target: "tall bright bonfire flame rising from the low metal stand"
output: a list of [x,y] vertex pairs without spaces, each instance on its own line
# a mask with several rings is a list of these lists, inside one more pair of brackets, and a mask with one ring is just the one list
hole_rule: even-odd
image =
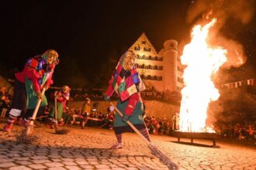
[[208,105],[220,97],[211,76],[227,61],[227,50],[207,44],[209,29],[216,19],[205,26],[192,29],[192,40],[184,47],[181,56],[186,66],[183,74],[185,87],[182,89],[180,108],[180,131],[204,132]]

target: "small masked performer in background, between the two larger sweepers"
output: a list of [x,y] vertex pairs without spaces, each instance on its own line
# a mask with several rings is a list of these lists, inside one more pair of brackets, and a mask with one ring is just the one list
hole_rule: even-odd
[[[59,123],[63,125],[62,114],[64,109],[66,109],[67,100],[70,96],[70,88],[68,86],[63,86],[61,90],[55,91],[54,93],[54,107],[50,110],[50,121],[51,123]],[[57,122],[55,122],[55,102],[57,102]]]

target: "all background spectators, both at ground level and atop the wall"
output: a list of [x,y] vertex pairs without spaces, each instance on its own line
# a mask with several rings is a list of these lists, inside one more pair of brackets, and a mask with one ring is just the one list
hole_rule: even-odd
[[[142,96],[146,99],[164,99],[164,97],[170,97],[174,95],[173,93],[157,93],[157,92],[143,92]],[[97,93],[74,93],[72,98],[73,100],[85,100],[86,97],[89,97],[93,100],[103,100],[101,91]],[[113,98],[115,98],[114,96]],[[12,100],[12,95],[6,93],[5,87],[1,87],[0,90],[0,114],[1,117],[7,117],[9,112],[9,107]],[[168,98],[170,99],[170,98]],[[45,120],[49,110],[52,109],[47,107],[43,114],[41,114],[41,120]],[[72,124],[72,125],[81,125],[81,121],[86,117],[85,127],[98,127],[112,129],[114,120],[115,111],[108,111],[102,113],[96,109],[92,109],[92,112],[88,115],[81,113],[81,110],[75,108],[68,108],[64,110],[62,117],[63,124]],[[175,114],[172,119],[153,117],[150,115],[144,116],[145,124],[150,134],[160,134],[160,135],[171,135],[171,131],[178,130],[178,115]],[[245,140],[256,140],[256,122],[251,122],[247,124],[220,124],[217,123],[214,125],[216,133],[220,138],[236,138],[236,139],[245,139]]]

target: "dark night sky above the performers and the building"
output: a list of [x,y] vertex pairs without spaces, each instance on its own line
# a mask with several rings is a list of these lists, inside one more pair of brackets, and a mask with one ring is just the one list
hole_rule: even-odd
[[[55,86],[92,86],[109,58],[118,59],[145,32],[159,51],[167,39],[189,39],[191,0],[5,1],[2,2],[0,63],[5,76],[29,57],[56,49],[61,63]],[[255,3],[253,3],[255,4]],[[244,73],[256,68],[256,19],[241,25],[232,19],[223,34],[244,45]],[[249,68],[247,70],[247,68]],[[253,71],[252,71],[253,70]],[[249,75],[250,74],[250,75]],[[73,76],[73,78],[72,78]],[[110,75],[109,75],[110,76]],[[247,77],[246,76],[246,77]]]

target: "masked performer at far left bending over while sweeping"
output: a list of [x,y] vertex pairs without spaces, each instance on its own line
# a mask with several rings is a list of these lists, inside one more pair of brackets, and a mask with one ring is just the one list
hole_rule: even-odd
[[29,126],[37,100],[42,100],[41,107],[47,105],[47,98],[41,90],[47,90],[53,83],[52,76],[57,63],[59,63],[58,53],[54,49],[49,49],[43,55],[29,58],[24,70],[16,73],[12,109],[3,128],[4,131],[11,131],[13,123],[19,116],[22,117],[22,124]]

